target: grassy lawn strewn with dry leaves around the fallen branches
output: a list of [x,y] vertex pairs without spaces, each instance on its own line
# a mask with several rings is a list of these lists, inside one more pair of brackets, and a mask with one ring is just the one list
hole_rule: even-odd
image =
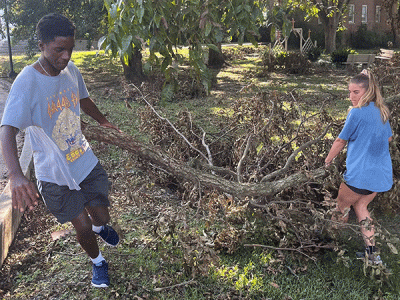
[[[14,57],[15,70],[19,72],[36,59]],[[72,60],[109,120],[146,140],[140,131],[140,112],[145,105],[124,88],[119,62],[96,52],[76,52]],[[7,63],[7,57],[0,58],[3,75],[8,73]],[[235,61],[217,74],[210,95],[178,99],[156,108],[171,120],[179,111],[188,110],[195,123],[212,131],[210,124],[217,112],[228,110],[237,97],[279,90],[291,93],[304,108],[318,110],[324,104],[335,120],[345,118],[349,106],[349,75],[345,71],[253,76],[260,68],[254,57]],[[214,252],[200,242],[200,237],[207,240],[212,235],[206,221],[197,217],[195,209],[185,208],[178,193],[132,168],[131,154],[126,151],[104,143],[91,144],[112,182],[111,217],[122,236],[117,248],[100,242],[112,285],[107,289],[90,286],[91,264],[74,232],[51,239],[52,232],[72,229],[72,225],[55,222],[41,203],[26,214],[1,269],[2,299],[400,299],[400,261],[386,245],[381,245],[382,257],[392,275],[384,282],[371,278],[371,270],[377,268],[364,274],[363,262],[354,255],[363,243],[351,229],[339,234],[345,245],[342,256],[337,251],[320,251],[316,261],[301,255],[284,257],[280,251],[261,247],[240,246],[231,254]],[[400,217],[396,213],[376,210],[374,214],[398,237]],[[351,222],[355,223],[354,218]],[[189,236],[199,239],[185,240]],[[268,237],[260,237],[259,243],[268,245]],[[207,268],[202,269],[205,264]]]

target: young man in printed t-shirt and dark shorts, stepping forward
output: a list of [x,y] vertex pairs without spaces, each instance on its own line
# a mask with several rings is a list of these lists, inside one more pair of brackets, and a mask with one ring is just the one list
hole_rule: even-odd
[[108,264],[96,235],[107,244],[119,242],[106,225],[108,178],[80,127],[80,109],[101,126],[107,121],[90,99],[82,76],[70,61],[75,26],[58,14],[44,16],[36,27],[41,56],[15,79],[1,122],[0,141],[9,170],[12,203],[21,212],[39,199],[35,185],[24,177],[17,155],[16,134],[26,129],[33,149],[39,191],[60,223],[72,222],[78,242],[93,262],[92,285],[110,284]]

